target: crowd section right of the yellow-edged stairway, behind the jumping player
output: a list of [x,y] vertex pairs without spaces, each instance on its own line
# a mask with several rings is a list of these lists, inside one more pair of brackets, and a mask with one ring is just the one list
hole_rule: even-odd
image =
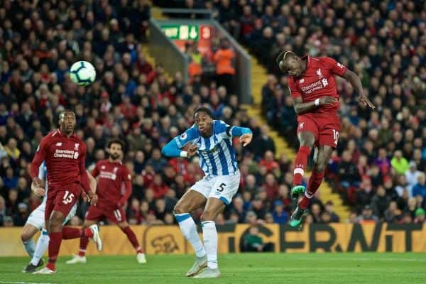
[[[354,70],[375,111],[338,81],[342,129],[327,180],[349,222],[423,222],[426,204],[426,4],[422,1],[220,1],[218,20],[271,72],[263,114],[280,133],[297,126],[282,50],[329,56]],[[303,3],[303,4],[302,4]],[[229,9],[230,8],[230,9]],[[285,135],[293,146],[295,136]],[[312,204],[318,222],[322,210]]]

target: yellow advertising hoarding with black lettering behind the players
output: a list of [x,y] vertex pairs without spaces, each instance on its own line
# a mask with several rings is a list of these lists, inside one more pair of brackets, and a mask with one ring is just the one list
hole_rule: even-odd
[[[193,253],[178,226],[132,226],[132,229],[148,254]],[[249,225],[217,226],[217,229],[219,253],[239,253]],[[21,228],[0,228],[0,256],[26,256],[20,234]],[[259,234],[264,242],[273,244],[275,252],[426,252],[426,226],[422,224],[313,224],[301,231],[268,224],[259,227]],[[102,253],[89,244],[89,255],[135,254],[119,227],[102,226],[101,236]],[[79,239],[62,241],[60,255],[77,253],[79,244]]]

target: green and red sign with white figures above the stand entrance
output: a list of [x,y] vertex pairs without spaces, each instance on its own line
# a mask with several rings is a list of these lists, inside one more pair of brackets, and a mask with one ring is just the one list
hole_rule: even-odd
[[209,25],[162,24],[161,30],[185,53],[185,43],[198,42],[198,50],[204,56],[211,52],[214,28]]

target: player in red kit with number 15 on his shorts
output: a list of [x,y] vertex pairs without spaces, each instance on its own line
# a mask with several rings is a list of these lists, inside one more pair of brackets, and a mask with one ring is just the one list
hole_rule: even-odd
[[38,170],[43,160],[48,172],[49,187],[45,205],[45,226],[50,238],[49,261],[45,268],[35,272],[38,274],[56,272],[55,263],[62,239],[87,236],[94,240],[97,249],[102,249],[97,226],[86,229],[68,226],[62,228],[65,217],[80,196],[80,186],[92,204],[97,202],[97,195],[90,190],[89,177],[84,165],[86,145],[77,137],[74,129],[75,113],[70,110],[62,111],[59,116],[59,129],[50,132],[41,140],[31,163],[30,173],[33,179],[31,187],[41,187]]

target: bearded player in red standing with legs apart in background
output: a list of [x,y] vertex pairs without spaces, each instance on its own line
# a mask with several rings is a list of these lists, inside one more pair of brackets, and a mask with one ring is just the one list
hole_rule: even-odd
[[[90,206],[87,210],[84,220],[84,227],[92,226],[105,217],[109,222],[117,224],[121,231],[136,249],[136,258],[138,263],[146,263],[145,253],[139,246],[135,233],[126,222],[126,214],[123,206],[131,195],[131,175],[126,166],[121,163],[123,157],[124,143],[120,140],[112,140],[108,143],[109,158],[99,161],[92,175],[98,178],[97,195],[98,202],[96,206]],[[124,185],[124,195],[121,195],[121,188]],[[80,239],[80,251],[68,264],[86,263],[87,236]]]

